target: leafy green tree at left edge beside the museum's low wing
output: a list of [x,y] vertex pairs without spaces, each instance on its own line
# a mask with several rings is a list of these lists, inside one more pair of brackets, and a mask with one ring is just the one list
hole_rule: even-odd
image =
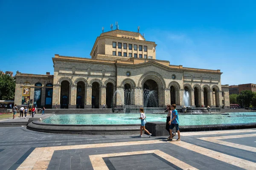
[[14,100],[15,79],[9,75],[0,75],[0,100]]

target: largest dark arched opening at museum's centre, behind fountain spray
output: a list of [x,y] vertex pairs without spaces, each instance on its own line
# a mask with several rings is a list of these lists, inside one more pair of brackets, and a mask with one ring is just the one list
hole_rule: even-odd
[[143,104],[144,107],[158,107],[158,85],[152,79],[148,79],[143,84]]

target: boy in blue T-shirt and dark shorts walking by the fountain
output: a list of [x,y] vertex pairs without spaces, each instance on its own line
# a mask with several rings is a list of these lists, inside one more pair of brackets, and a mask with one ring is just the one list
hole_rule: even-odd
[[[179,130],[179,115],[176,110],[176,105],[172,105],[172,120],[170,120],[169,125],[170,125],[170,134],[172,132],[172,129],[175,127],[176,131],[178,133],[178,139],[176,141],[180,141],[180,130]],[[169,138],[170,141],[172,141],[172,136]]]

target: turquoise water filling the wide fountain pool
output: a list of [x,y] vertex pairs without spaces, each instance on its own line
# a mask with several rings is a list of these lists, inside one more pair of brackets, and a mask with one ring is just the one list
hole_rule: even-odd
[[[167,114],[146,113],[147,122],[166,122]],[[116,125],[140,124],[140,113],[115,114],[63,114],[53,115],[42,122],[50,124],[71,125]],[[256,112],[229,113],[229,115],[185,115],[179,114],[180,125],[217,125],[234,123],[255,123]]]

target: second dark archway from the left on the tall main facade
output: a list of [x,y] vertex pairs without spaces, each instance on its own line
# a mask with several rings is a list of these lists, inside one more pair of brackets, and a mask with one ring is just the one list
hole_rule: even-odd
[[76,108],[84,108],[85,84],[78,82],[76,86]]

